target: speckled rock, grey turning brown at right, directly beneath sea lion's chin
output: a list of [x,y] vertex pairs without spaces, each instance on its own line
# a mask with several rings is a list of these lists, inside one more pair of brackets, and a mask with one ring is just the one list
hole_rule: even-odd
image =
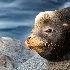
[[17,70],[70,70],[70,60],[51,62],[39,54],[23,63]]

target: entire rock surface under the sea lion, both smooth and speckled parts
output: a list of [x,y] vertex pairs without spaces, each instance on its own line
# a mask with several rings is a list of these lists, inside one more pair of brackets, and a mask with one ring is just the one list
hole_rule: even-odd
[[35,51],[26,49],[21,41],[2,37],[0,70],[70,70],[70,60],[47,61]]

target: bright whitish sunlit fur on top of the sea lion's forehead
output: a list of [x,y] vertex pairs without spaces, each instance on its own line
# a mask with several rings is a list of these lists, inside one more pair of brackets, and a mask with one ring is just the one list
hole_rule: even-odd
[[35,23],[40,23],[43,22],[46,18],[47,21],[49,21],[50,18],[52,18],[53,16],[55,16],[54,12],[53,11],[46,11],[46,12],[40,12],[36,18],[35,18]]

